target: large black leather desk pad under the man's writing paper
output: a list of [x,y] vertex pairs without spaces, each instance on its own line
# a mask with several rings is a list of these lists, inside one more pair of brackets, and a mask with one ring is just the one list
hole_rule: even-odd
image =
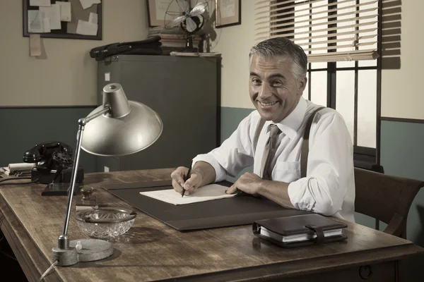
[[[230,187],[232,183],[224,181],[218,184]],[[140,194],[146,191],[172,189],[168,180],[110,184],[102,185],[102,188],[178,231],[240,226],[252,224],[259,219],[309,213],[297,209],[285,209],[271,200],[251,195],[175,205]]]

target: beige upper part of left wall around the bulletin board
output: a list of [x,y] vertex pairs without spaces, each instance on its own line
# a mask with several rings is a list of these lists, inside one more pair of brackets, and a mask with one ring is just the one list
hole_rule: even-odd
[[95,105],[97,68],[88,51],[145,39],[146,0],[102,0],[103,39],[42,38],[47,58],[29,56],[22,36],[22,1],[0,1],[0,106]]

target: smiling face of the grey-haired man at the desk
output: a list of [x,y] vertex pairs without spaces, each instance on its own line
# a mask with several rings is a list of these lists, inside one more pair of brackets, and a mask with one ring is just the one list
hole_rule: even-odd
[[250,62],[249,94],[259,114],[266,121],[278,123],[298,105],[307,78],[293,76],[293,62],[288,56],[267,59],[253,55]]

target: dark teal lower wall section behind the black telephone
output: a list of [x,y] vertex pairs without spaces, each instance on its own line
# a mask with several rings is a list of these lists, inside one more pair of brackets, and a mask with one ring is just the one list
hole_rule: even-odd
[[[0,109],[0,166],[22,163],[23,152],[45,141],[59,141],[76,147],[78,119],[93,108]],[[84,172],[95,171],[95,156],[81,150]]]

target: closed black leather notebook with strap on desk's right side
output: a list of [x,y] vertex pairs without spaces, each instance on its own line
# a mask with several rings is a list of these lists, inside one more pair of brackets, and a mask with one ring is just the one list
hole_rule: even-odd
[[254,235],[281,247],[298,247],[344,240],[345,223],[321,214],[301,214],[254,221]]

